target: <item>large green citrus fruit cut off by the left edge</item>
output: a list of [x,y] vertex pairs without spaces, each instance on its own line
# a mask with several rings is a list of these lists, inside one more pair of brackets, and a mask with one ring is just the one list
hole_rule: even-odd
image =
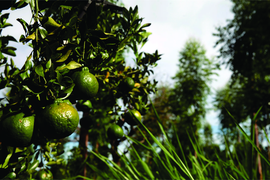
[[0,121],[1,143],[11,147],[28,147],[36,137],[35,117],[17,111],[3,116]]

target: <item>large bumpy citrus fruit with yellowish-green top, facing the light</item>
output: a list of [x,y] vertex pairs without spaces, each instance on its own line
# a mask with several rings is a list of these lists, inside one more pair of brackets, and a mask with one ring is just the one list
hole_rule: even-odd
[[70,136],[79,124],[79,114],[70,104],[56,100],[38,115],[39,130],[49,139]]

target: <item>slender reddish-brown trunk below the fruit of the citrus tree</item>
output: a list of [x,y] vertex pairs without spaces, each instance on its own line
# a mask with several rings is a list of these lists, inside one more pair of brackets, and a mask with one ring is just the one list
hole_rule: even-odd
[[[83,117],[87,115],[88,113],[83,113]],[[82,161],[84,161],[87,158],[87,146],[88,146],[88,130],[85,129],[84,127],[81,127],[80,130],[79,146],[81,147]],[[86,177],[86,164],[84,164],[83,170],[80,173],[80,175]]]

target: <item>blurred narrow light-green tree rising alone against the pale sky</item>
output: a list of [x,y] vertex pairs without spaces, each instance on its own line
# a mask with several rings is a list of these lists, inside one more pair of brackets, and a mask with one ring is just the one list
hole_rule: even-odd
[[199,41],[189,39],[186,42],[180,51],[179,71],[173,77],[175,85],[169,97],[171,112],[176,116],[179,140],[185,146],[185,154],[188,154],[192,147],[186,133],[188,131],[193,137],[193,131],[198,137],[197,130],[205,118],[206,99],[211,92],[208,83],[211,82],[213,70],[217,68],[213,60],[205,56],[205,52]]

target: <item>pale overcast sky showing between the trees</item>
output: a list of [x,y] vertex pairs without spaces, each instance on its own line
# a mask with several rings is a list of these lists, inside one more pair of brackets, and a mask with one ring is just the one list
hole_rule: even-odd
[[[188,38],[196,38],[206,49],[206,56],[211,58],[218,55],[218,49],[214,49],[216,38],[215,27],[225,26],[226,19],[232,19],[232,2],[225,0],[123,0],[125,7],[138,5],[139,16],[144,18],[142,24],[151,23],[145,28],[152,32],[148,42],[141,51],[154,53],[157,49],[161,56],[158,66],[155,67],[155,78],[159,82],[172,84],[173,77],[178,70],[179,51],[184,47]],[[3,29],[1,35],[12,35],[19,40],[20,35],[24,34],[22,26],[17,18],[22,18],[29,23],[31,19],[30,7],[18,10],[3,10],[2,14],[10,13],[7,20],[13,27]],[[17,56],[13,58],[17,67],[21,68],[26,57],[32,49],[21,43],[12,43],[9,46],[17,47]],[[223,87],[228,81],[231,73],[229,70],[218,72],[219,77],[211,84],[215,89]],[[217,129],[217,113],[210,111],[206,117],[207,121]]]

